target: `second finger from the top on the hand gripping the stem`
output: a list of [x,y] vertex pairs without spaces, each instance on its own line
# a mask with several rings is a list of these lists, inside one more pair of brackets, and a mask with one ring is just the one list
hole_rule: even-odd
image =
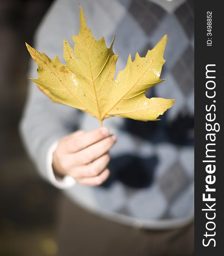
[[93,145],[90,145],[88,148],[85,148],[71,156],[74,156],[73,161],[76,164],[76,166],[91,163],[92,161],[107,153],[115,142],[116,137],[114,135],[111,135],[105,138],[104,140],[101,140]]

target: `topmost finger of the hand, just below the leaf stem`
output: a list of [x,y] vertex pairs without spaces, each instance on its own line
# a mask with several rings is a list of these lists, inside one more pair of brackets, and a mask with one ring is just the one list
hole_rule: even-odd
[[89,145],[92,145],[105,137],[108,137],[109,130],[106,127],[102,127],[96,129],[94,131],[86,132],[85,134],[81,134],[80,136],[70,137],[67,140],[67,148],[71,153],[78,152]]

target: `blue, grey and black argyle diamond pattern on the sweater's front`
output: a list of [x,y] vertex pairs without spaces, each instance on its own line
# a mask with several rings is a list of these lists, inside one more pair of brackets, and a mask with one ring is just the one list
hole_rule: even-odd
[[[127,12],[114,29],[119,38],[114,51],[122,53],[119,58],[124,67],[130,52],[132,59],[136,48],[144,56],[168,34],[162,70],[162,78],[167,80],[150,89],[147,96],[175,98],[176,103],[159,122],[119,121],[121,131],[139,140],[135,150],[141,151],[145,143],[150,152],[142,157],[135,150],[124,150],[116,157],[115,151],[122,146],[112,149],[111,176],[94,188],[97,203],[107,210],[139,219],[181,218],[193,212],[193,2],[186,1],[170,14],[148,0],[132,0],[128,4],[125,1]],[[128,23],[129,29],[134,28],[131,35],[125,30]],[[135,36],[139,38],[136,40]],[[110,127],[109,120],[106,125]]]

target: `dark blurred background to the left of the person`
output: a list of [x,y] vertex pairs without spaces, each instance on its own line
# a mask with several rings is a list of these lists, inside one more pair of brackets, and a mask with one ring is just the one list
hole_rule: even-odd
[[[58,190],[28,160],[18,134],[32,38],[52,0],[0,0],[0,255],[57,253]],[[48,196],[46,196],[48,195]]]

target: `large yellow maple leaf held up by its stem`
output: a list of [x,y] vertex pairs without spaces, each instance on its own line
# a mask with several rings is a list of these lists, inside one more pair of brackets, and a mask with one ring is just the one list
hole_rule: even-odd
[[[53,102],[78,108],[102,120],[121,116],[141,121],[158,120],[170,108],[174,99],[147,98],[146,90],[162,82],[160,73],[164,64],[163,53],[167,41],[165,35],[146,56],[136,53],[132,61],[119,71],[114,81],[118,55],[113,53],[113,42],[106,47],[104,38],[96,41],[87,28],[80,6],[79,35],[73,36],[74,50],[63,42],[63,65],[56,56],[48,58],[26,44],[31,57],[38,64],[38,79],[34,81]],[[115,38],[115,36],[114,36]],[[113,38],[113,41],[114,41]]]

